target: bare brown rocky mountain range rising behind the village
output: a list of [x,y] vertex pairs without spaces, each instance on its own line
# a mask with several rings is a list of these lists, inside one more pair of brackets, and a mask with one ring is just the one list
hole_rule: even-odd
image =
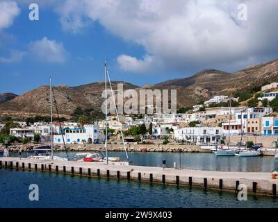
[[[278,60],[254,65],[235,73],[205,69],[188,78],[167,80],[156,85],[145,85],[145,87],[124,83],[124,89],[177,89],[177,105],[181,107],[195,105],[198,101],[204,101],[214,95],[229,95],[230,92],[234,94],[274,81],[278,81]],[[112,83],[113,89],[117,89],[117,83],[120,82]],[[103,90],[104,82],[77,87],[65,85],[54,87],[59,111],[65,117],[70,117],[78,107],[100,110],[103,102],[101,99]],[[49,114],[49,106],[49,87],[42,86],[0,103],[0,116],[45,115]]]

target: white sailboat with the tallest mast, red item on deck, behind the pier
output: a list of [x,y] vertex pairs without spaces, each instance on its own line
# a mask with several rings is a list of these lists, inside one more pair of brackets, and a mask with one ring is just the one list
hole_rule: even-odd
[[122,129],[120,128],[120,133],[121,133],[121,137],[122,137],[122,144],[124,145],[124,151],[126,153],[126,160],[127,161],[122,161],[120,159],[120,157],[108,157],[108,124],[107,124],[107,114],[108,114],[108,110],[107,110],[107,80],[109,82],[110,88],[111,88],[111,94],[113,97],[113,103],[115,106],[115,112],[117,115],[117,121],[120,122],[120,118],[119,115],[117,113],[117,106],[116,106],[116,101],[115,101],[115,96],[114,96],[114,92],[113,92],[113,88],[111,85],[111,80],[110,80],[110,76],[108,73],[108,67],[106,65],[106,62],[104,62],[104,69],[105,69],[105,95],[106,95],[106,101],[105,101],[105,151],[106,151],[106,155],[104,157],[101,157],[101,155],[99,153],[76,153],[76,156],[79,157],[79,160],[77,161],[81,161],[81,162],[99,162],[99,164],[115,164],[115,165],[129,165],[129,163],[131,161],[129,161],[129,155],[126,151],[126,146],[125,146],[125,142],[124,142],[124,135],[122,133]]

